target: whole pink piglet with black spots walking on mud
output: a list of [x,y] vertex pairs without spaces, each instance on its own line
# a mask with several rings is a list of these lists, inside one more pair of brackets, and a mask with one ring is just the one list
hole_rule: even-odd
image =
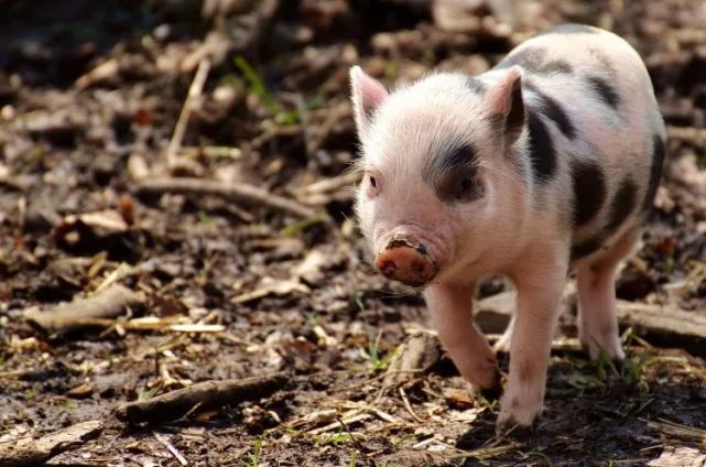
[[481,390],[499,377],[471,322],[476,281],[501,273],[517,285],[499,426],[542,411],[569,272],[580,340],[594,358],[622,359],[613,279],[652,206],[665,141],[634,50],[564,25],[476,77],[439,73],[389,94],[354,67],[351,85],[366,173],[356,209],[376,265],[424,286],[442,341]]

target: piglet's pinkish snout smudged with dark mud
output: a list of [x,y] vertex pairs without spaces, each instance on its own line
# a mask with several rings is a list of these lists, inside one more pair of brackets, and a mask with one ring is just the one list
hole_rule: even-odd
[[378,253],[376,268],[385,278],[413,286],[426,284],[438,272],[424,243],[402,234],[393,236]]

